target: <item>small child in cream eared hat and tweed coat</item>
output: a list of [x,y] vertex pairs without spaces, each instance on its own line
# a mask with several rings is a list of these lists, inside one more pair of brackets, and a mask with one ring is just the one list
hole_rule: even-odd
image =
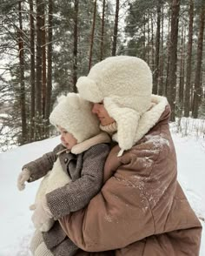
[[32,207],[36,232],[30,249],[35,256],[76,253],[77,247],[54,219],[82,209],[102,187],[110,139],[107,133],[100,133],[91,107],[75,93],[58,98],[50,123],[61,132],[62,144],[24,165],[18,177],[18,189],[23,190],[26,181],[45,176]]

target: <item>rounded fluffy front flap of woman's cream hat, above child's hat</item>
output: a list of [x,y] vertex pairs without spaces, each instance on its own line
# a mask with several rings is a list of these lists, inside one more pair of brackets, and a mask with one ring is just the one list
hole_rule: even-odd
[[76,83],[76,87],[81,96],[90,102],[101,102],[102,92],[99,91],[96,82],[89,77],[79,77]]

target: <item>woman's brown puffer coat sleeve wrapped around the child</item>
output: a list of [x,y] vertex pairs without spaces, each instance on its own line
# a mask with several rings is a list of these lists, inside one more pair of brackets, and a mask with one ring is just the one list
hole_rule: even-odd
[[59,219],[77,246],[88,252],[115,250],[155,233],[145,180],[149,185],[155,160],[162,160],[158,153],[144,151],[137,158],[136,151],[123,157],[122,165],[86,208]]

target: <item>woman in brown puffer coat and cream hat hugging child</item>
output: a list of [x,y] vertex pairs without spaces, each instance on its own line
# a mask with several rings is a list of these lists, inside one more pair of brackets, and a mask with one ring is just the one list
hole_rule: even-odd
[[137,57],[108,57],[76,85],[116,145],[101,192],[83,210],[60,219],[64,232],[88,252],[199,255],[202,226],[176,179],[170,107],[166,98],[151,94],[149,66]]

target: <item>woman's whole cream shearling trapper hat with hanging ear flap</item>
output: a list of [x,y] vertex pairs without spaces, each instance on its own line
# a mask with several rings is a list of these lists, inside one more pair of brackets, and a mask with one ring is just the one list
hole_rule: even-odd
[[103,100],[109,116],[116,120],[122,152],[129,150],[135,144],[139,119],[151,106],[152,73],[148,64],[138,57],[108,57],[95,64],[87,77],[79,77],[76,87],[90,102]]

